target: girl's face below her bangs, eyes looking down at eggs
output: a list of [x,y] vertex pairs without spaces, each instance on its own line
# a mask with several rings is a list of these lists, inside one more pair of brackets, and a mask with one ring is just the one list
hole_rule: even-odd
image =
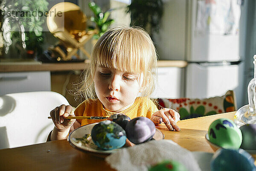
[[97,66],[93,81],[96,95],[104,107],[121,112],[134,103],[140,92],[143,75]]

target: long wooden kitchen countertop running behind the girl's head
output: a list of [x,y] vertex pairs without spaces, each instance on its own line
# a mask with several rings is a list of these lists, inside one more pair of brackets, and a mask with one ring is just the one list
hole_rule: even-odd
[[[84,70],[89,60],[84,62],[67,63],[40,63],[29,62],[0,62],[0,72],[26,72],[26,71],[67,71]],[[186,61],[157,61],[158,67],[186,67]]]

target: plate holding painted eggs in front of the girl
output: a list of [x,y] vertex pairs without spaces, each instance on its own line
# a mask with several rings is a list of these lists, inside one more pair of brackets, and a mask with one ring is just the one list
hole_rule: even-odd
[[155,128],[150,119],[146,117],[130,119],[126,115],[115,114],[108,120],[84,125],[73,130],[67,141],[80,151],[106,157],[121,148],[152,139],[164,139],[164,135]]

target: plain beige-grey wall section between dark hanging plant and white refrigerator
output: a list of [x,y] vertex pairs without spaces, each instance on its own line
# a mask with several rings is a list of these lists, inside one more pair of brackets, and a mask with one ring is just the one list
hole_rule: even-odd
[[187,0],[165,0],[159,34],[154,35],[160,60],[185,60]]

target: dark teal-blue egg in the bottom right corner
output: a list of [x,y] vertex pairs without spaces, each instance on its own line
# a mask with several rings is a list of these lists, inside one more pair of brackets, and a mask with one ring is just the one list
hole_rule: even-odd
[[253,157],[243,149],[219,149],[211,160],[211,171],[256,171]]

